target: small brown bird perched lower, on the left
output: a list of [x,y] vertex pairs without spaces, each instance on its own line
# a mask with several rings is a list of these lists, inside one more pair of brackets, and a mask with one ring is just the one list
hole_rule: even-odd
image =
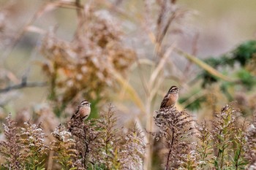
[[83,100],[80,102],[78,109],[72,115],[71,119],[79,116],[82,120],[87,119],[91,113],[91,103],[89,101]]

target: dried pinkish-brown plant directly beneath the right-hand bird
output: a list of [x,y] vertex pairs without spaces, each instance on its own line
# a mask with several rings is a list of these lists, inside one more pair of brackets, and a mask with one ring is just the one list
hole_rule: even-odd
[[192,138],[194,132],[192,117],[187,112],[179,112],[175,107],[164,107],[156,111],[157,117],[154,117],[156,125],[159,127],[159,134],[154,134],[155,139],[164,139],[165,147],[165,169],[178,169],[186,167],[189,158],[194,152]]

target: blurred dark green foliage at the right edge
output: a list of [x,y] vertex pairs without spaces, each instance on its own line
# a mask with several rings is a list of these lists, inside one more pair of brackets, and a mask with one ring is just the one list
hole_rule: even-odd
[[[201,86],[204,89],[211,87],[211,85],[218,85],[220,93],[225,95],[227,101],[234,101],[236,99],[236,89],[244,89],[252,91],[256,86],[256,41],[249,40],[241,45],[238,45],[235,50],[230,51],[218,57],[210,57],[204,60],[208,65],[222,72],[227,77],[234,77],[233,81],[224,81],[210,72],[204,70],[193,81],[193,83],[201,80]],[[233,92],[233,93],[231,93]],[[215,93],[216,94],[216,93]],[[186,98],[181,98],[181,103],[186,103],[189,98],[193,98],[193,93]],[[196,98],[193,102],[186,105],[188,109],[199,109],[203,102],[206,101],[206,94],[201,98]],[[244,109],[244,108],[243,108]],[[248,109],[247,109],[248,110]]]

